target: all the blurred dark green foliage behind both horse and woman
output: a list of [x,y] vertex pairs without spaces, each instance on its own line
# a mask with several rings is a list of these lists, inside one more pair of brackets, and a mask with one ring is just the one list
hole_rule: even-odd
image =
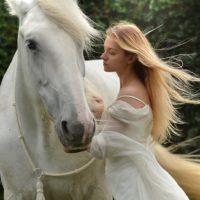
[[[79,0],[79,5],[102,32],[119,20],[133,22],[144,32],[161,25],[147,35],[157,53],[162,58],[177,55],[185,69],[200,75],[199,0]],[[0,0],[0,82],[17,49],[17,29],[16,17],[8,14],[4,0]],[[93,52],[85,58],[99,58],[102,43],[98,41]],[[194,87],[199,90],[199,85]],[[166,146],[200,136],[200,106],[184,105],[179,111],[186,123],[180,126],[181,135],[169,138]],[[194,140],[177,152],[199,154],[199,147],[200,140]],[[3,200],[1,186],[0,200]]]

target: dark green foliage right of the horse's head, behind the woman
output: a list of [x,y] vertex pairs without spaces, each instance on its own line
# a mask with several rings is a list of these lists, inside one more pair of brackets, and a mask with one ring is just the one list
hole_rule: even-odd
[[[105,30],[110,24],[119,20],[133,22],[144,32],[162,25],[147,35],[154,48],[162,49],[157,50],[157,53],[163,58],[177,55],[177,58],[184,61],[184,68],[200,74],[200,12],[198,11],[200,1],[104,0],[93,2],[92,6],[90,2],[90,0],[80,1],[80,6],[92,20],[101,25],[101,30]],[[96,14],[93,15],[94,13]],[[188,42],[183,44],[185,41]],[[179,47],[170,48],[177,45]],[[102,51],[102,44],[100,44],[93,56],[98,58]],[[196,90],[199,90],[199,85]],[[200,134],[199,106],[187,105],[180,112],[183,113],[183,120],[187,123],[180,126],[181,137],[170,139],[172,143]],[[192,146],[197,147],[197,142],[193,142]],[[189,149],[186,148],[182,152],[188,152]]]

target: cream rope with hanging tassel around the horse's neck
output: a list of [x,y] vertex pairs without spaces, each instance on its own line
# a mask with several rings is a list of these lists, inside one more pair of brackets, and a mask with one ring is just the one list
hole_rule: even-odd
[[[16,91],[16,71],[15,71],[15,79],[14,79],[14,88]],[[14,95],[14,102],[15,102],[15,95]],[[20,140],[20,143],[24,149],[24,152],[26,154],[26,157],[31,165],[31,168],[33,170],[33,173],[35,174],[36,177],[36,200],[45,200],[45,196],[44,196],[44,190],[43,190],[43,182],[42,182],[42,178],[44,176],[50,176],[50,177],[61,177],[61,176],[69,176],[69,175],[74,175],[74,174],[78,174],[81,171],[85,170],[87,167],[89,167],[94,161],[95,158],[91,158],[85,165],[83,165],[82,167],[69,171],[69,172],[64,172],[64,173],[51,173],[51,172],[47,172],[42,170],[39,167],[36,167],[35,163],[33,162],[30,153],[28,151],[26,142],[24,140],[24,135],[23,135],[23,131],[22,128],[20,126],[20,120],[18,117],[18,113],[17,113],[17,106],[16,103],[13,104],[14,110],[15,110],[15,115],[16,115],[16,119],[17,119],[17,125],[18,125],[18,129],[19,129],[19,135],[18,138]]]

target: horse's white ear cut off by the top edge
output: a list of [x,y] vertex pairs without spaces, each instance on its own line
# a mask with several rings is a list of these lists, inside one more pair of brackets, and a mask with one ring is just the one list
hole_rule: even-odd
[[24,16],[35,5],[35,0],[6,0],[11,15]]

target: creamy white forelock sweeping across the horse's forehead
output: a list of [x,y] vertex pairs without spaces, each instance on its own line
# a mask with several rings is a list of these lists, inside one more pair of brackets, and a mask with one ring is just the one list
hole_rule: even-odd
[[83,48],[88,49],[99,36],[91,20],[75,0],[36,0],[38,6],[55,24],[68,32]]

